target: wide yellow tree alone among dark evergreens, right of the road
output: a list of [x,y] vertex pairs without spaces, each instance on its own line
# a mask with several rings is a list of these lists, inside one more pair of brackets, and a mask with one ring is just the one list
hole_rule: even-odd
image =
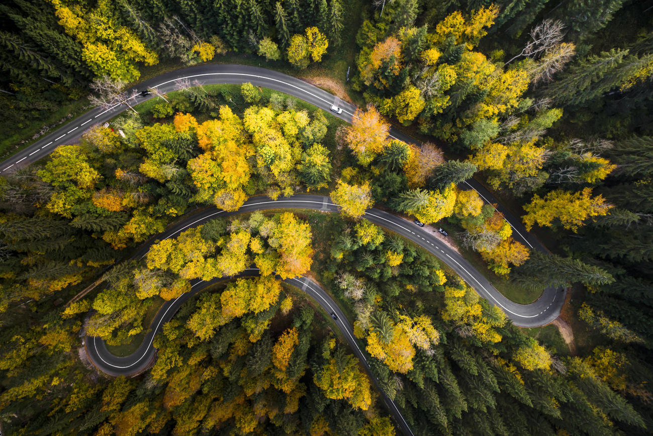
[[612,207],[605,203],[603,195],[592,198],[592,188],[584,188],[581,192],[555,190],[544,198],[535,194],[524,206],[527,213],[522,220],[527,230],[534,224],[551,227],[554,220],[560,220],[565,229],[577,231],[587,218],[606,215]]

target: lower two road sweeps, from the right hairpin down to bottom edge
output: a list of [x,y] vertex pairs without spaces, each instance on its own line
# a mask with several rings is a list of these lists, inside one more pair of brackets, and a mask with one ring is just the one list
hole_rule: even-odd
[[[187,229],[200,226],[201,224],[215,218],[266,209],[313,209],[324,212],[338,212],[338,205],[332,203],[329,197],[321,195],[293,195],[293,197],[283,197],[276,201],[268,197],[253,197],[246,201],[246,203],[235,212],[227,212],[225,210],[211,207],[202,210],[201,212],[191,214],[182,220],[182,222],[178,222],[167,231],[161,233],[157,240],[176,237]],[[562,295],[559,295],[555,291],[552,293],[548,292],[548,290],[545,291],[545,293],[535,301],[535,303],[530,305],[518,305],[517,303],[513,303],[503,297],[500,292],[492,287],[490,282],[488,282],[481,273],[476,271],[468,261],[460,256],[460,254],[456,253],[448,246],[441,244],[439,240],[426,229],[415,226],[398,216],[379,209],[368,209],[365,212],[365,218],[374,222],[374,224],[377,224],[378,226],[406,237],[437,256],[441,261],[443,261],[443,263],[446,263],[456,271],[456,273],[458,273],[458,275],[460,275],[481,296],[485,297],[493,305],[500,307],[518,326],[533,327],[548,324],[558,316],[560,309],[562,308],[562,303],[564,303],[564,299],[561,298]],[[153,243],[155,242],[151,241],[150,243],[141,246],[136,251],[134,258],[139,259],[146,256]],[[247,269],[238,277],[252,276],[257,273],[257,269]],[[124,357],[114,356],[107,350],[106,344],[102,339],[86,336],[84,344],[86,346],[87,355],[96,367],[109,375],[135,375],[144,371],[150,367],[155,358],[156,350],[152,343],[154,336],[160,331],[161,326],[171,320],[181,305],[192,295],[219,280],[224,279],[216,278],[209,282],[193,280],[190,292],[184,293],[174,300],[167,301],[161,309],[159,309],[159,312],[157,312],[143,342],[140,344],[138,349],[133,352],[133,354]],[[349,320],[347,320],[344,312],[340,307],[338,307],[337,303],[323,288],[321,288],[321,286],[319,286],[319,284],[313,282],[313,280],[308,277],[289,278],[284,281],[306,292],[327,312],[334,312],[338,315],[336,326],[340,331],[342,331],[343,336],[347,340],[347,343],[349,343],[349,346],[351,346],[354,354],[370,375],[370,378],[379,392],[381,392],[383,401],[385,401],[390,413],[394,417],[397,426],[402,429],[404,434],[413,435],[394,402],[383,394],[383,390],[381,390],[378,380],[376,380],[370,370],[366,355],[362,352],[357,340],[353,336],[353,326]]]

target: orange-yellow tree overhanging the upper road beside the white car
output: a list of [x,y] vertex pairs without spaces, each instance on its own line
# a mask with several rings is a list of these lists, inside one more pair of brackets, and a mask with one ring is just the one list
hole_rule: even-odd
[[368,105],[365,112],[360,109],[354,112],[351,126],[347,127],[345,140],[360,165],[369,165],[377,154],[383,151],[389,128],[390,125],[372,105]]

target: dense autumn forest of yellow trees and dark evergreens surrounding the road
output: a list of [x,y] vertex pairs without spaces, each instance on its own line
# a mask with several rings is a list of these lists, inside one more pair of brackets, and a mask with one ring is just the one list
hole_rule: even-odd
[[[249,83],[180,81],[0,177],[1,431],[393,435],[380,389],[415,435],[650,432],[653,3],[356,6],[0,6],[3,132],[159,63],[319,68],[343,35],[357,44],[346,89],[366,103],[349,126]],[[392,139],[391,125],[423,144]],[[516,241],[460,184],[471,177],[550,254]],[[298,192],[342,213],[236,214],[157,239],[197,209]],[[437,258],[365,220],[373,205],[447,227],[500,291],[568,288],[571,346],[513,326]],[[226,280],[251,266],[259,277]],[[328,314],[280,281],[300,275],[338,301],[371,374]],[[146,372],[106,377],[88,360],[86,335],[129,354],[165,301],[219,278],[164,325]]]

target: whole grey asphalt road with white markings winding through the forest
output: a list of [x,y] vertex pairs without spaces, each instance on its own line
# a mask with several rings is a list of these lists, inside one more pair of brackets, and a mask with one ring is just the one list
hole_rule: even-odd
[[[338,105],[341,107],[341,114],[332,115],[342,118],[347,122],[351,122],[356,107],[345,103],[335,97],[334,95],[325,92],[315,86],[312,86],[298,78],[293,76],[285,75],[279,73],[278,71],[272,71],[264,68],[249,67],[246,65],[197,65],[195,67],[189,67],[185,69],[179,69],[172,71],[170,73],[165,73],[163,75],[157,76],[155,78],[148,79],[140,84],[136,89],[143,90],[146,88],[157,88],[159,92],[166,93],[174,90],[174,84],[176,80],[180,79],[189,79],[192,81],[197,80],[200,84],[242,84],[244,82],[251,82],[257,86],[262,86],[265,88],[270,88],[277,90],[279,92],[287,93],[302,99],[316,107],[319,107],[324,110],[329,110],[332,104]],[[154,95],[149,97],[134,97],[133,104],[142,103],[151,98],[157,98]],[[82,133],[88,127],[91,127],[95,124],[101,124],[110,120],[114,116],[120,114],[121,112],[127,110],[127,107],[122,104],[115,105],[114,107],[106,110],[95,109],[87,112],[86,114],[72,120],[63,127],[59,127],[50,135],[46,135],[43,139],[40,139],[31,146],[25,148],[21,152],[18,152],[11,158],[6,159],[0,163],[0,175],[6,174],[8,171],[14,171],[20,167],[29,165],[34,161],[37,161],[44,156],[50,154],[54,148],[61,144],[72,144],[81,137]],[[394,139],[399,139],[407,143],[418,144],[417,141],[411,137],[405,135],[404,133],[397,131],[396,129],[390,129],[390,137]],[[517,241],[520,241],[530,248],[539,250],[541,252],[547,252],[547,249],[535,239],[530,233],[526,231],[524,226],[521,224],[520,220],[513,216],[501,203],[488,192],[485,187],[478,182],[477,180],[471,179],[467,182],[461,184],[460,188],[462,189],[473,189],[476,190],[481,197],[494,207],[497,210],[502,212],[505,220],[513,227],[513,235]],[[312,198],[311,198],[312,197]],[[302,195],[292,197],[291,199],[281,199],[279,201],[269,201],[269,199],[250,199],[247,201],[239,212],[246,212],[247,210],[260,210],[260,209],[269,209],[269,207],[281,208],[281,207],[291,207],[291,208],[300,208],[300,209],[322,209],[322,210],[331,210],[334,211],[337,209],[336,205],[332,205],[329,202],[327,197],[315,197]],[[254,209],[249,209],[254,208]],[[202,212],[206,214],[210,212]],[[215,215],[221,213],[220,211],[214,210]],[[225,213],[226,212],[222,212]],[[543,326],[548,324],[550,321],[554,320],[560,313],[562,305],[564,303],[564,290],[556,290],[554,288],[547,288],[543,295],[530,305],[519,305],[509,301],[503,295],[492,287],[490,282],[483,277],[478,271],[476,271],[468,261],[464,260],[462,256],[456,254],[453,250],[449,249],[447,246],[443,246],[439,241],[430,235],[424,229],[414,226],[407,223],[405,220],[398,218],[387,212],[381,210],[371,209],[367,212],[366,218],[370,221],[379,224],[379,226],[386,227],[396,233],[400,233],[404,237],[415,241],[422,247],[429,250],[442,261],[447,263],[456,273],[458,273],[464,280],[470,284],[482,297],[486,298],[490,303],[497,305],[502,308],[502,310],[507,314],[511,320],[517,326],[523,327],[534,327],[534,326]],[[209,219],[208,217],[200,217],[199,215],[189,216],[184,220],[185,222],[193,222],[193,224],[201,224],[202,220]],[[183,224],[183,223],[182,223]],[[189,224],[191,226],[193,224]],[[174,229],[171,229],[172,231]],[[182,229],[178,230],[182,231]],[[167,237],[172,236],[172,234]],[[298,279],[291,279],[298,280]],[[320,303],[321,300],[325,302],[326,305],[332,306],[332,309],[337,309],[333,301],[327,301],[328,295],[325,293],[317,284],[306,282],[306,278],[298,280],[302,283],[302,288],[306,284],[304,290],[311,289],[315,292],[315,295],[319,298],[316,298]],[[291,284],[297,285],[298,283],[291,282]],[[207,286],[205,282],[198,282],[193,284],[193,291],[197,292],[198,290]],[[138,373],[140,370],[147,367],[148,363],[153,359],[154,350],[151,346],[151,339],[158,331],[161,324],[169,320],[179,305],[183,303],[184,295],[179,299],[168,302],[164,308],[157,314],[155,319],[155,324],[148,333],[146,340],[142,344],[142,350],[139,348],[140,353],[144,354],[140,356],[139,351],[137,351],[132,356],[127,356],[125,358],[117,358],[112,356],[106,350],[106,347],[101,341],[96,341],[95,338],[86,338],[86,345],[89,351],[89,356],[98,367],[103,369],[107,373],[115,374],[134,374]],[[185,297],[186,299],[189,296]],[[184,300],[185,301],[185,300]],[[323,307],[325,307],[323,305]],[[326,309],[326,307],[325,307]],[[339,310],[339,309],[338,309]],[[332,310],[336,313],[342,314],[338,310]],[[351,337],[351,326],[345,325],[346,320],[343,316],[340,316],[340,323],[338,327],[343,330],[345,337]],[[149,338],[149,339],[148,339]],[[353,337],[352,337],[353,340]],[[366,362],[364,355],[358,349],[358,346],[354,343],[351,343],[353,350],[357,352],[358,357],[362,358],[361,362]],[[367,365],[365,365],[368,368]],[[369,368],[368,368],[369,369]],[[372,377],[373,380],[374,377]],[[375,383],[376,380],[375,380]],[[385,398],[386,402],[389,399]],[[393,411],[393,415],[397,420],[398,424],[404,429],[404,433],[412,434],[406,422],[403,420],[402,416],[399,414],[394,403],[390,401],[389,403],[390,411]],[[396,412],[396,413],[395,413]],[[402,424],[403,422],[403,424]]]

